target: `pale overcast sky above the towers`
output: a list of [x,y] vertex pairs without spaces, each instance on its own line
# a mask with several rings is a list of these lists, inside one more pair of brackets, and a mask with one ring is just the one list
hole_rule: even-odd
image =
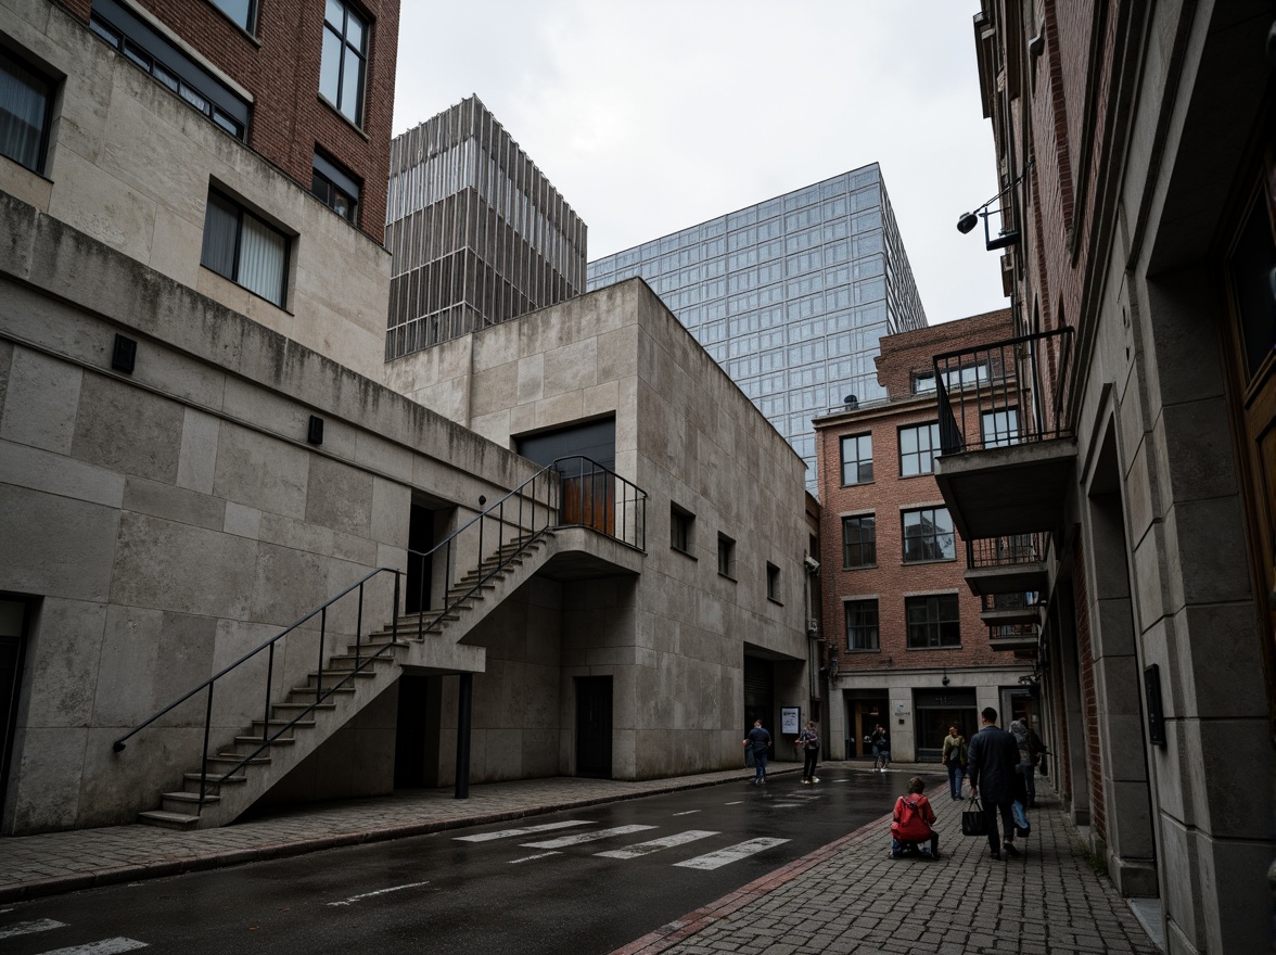
[[870,162],[931,324],[1004,308],[979,0],[404,0],[394,133],[477,93],[590,258]]

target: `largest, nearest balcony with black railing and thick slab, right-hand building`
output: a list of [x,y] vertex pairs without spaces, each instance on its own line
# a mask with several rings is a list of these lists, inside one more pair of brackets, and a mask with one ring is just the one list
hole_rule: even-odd
[[1054,530],[1073,483],[1072,329],[934,357],[935,480],[966,540]]

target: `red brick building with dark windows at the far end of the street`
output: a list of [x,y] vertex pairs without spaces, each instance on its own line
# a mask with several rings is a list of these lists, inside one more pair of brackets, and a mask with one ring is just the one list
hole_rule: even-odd
[[892,757],[938,761],[993,706],[1035,720],[1037,610],[994,606],[967,582],[966,541],[934,479],[935,352],[1009,337],[1009,309],[882,338],[887,398],[814,421],[822,502],[829,752],[847,758],[878,724]]

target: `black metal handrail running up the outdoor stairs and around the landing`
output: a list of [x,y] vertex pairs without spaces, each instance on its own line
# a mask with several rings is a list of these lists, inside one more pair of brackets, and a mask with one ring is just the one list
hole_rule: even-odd
[[[561,513],[561,485],[563,485],[564,480],[573,480],[573,475],[572,474],[568,474],[567,476],[564,476],[564,470],[567,467],[567,462],[572,462],[572,461],[577,462],[577,471],[575,471],[574,479],[581,479],[581,478],[584,478],[584,476],[590,476],[591,483],[592,483],[592,480],[598,479],[601,476],[601,479],[606,480],[609,484],[618,484],[618,485],[620,485],[624,489],[623,490],[623,499],[627,503],[635,503],[635,504],[641,506],[641,507],[637,508],[638,512],[639,512],[639,520],[637,520],[633,523],[633,527],[639,529],[641,534],[639,535],[630,535],[630,536],[635,538],[634,541],[627,540],[625,538],[618,538],[618,539],[621,540],[621,543],[628,543],[632,546],[637,546],[638,549],[643,549],[644,548],[644,544],[646,544],[646,500],[647,500],[647,493],[643,492],[643,490],[641,490],[639,488],[637,488],[637,485],[633,485],[630,481],[627,481],[625,479],[620,478],[619,475],[616,475],[610,469],[606,469],[606,467],[604,467],[602,465],[598,465],[595,461],[590,461],[590,458],[584,458],[582,456],[570,456],[570,457],[565,457],[565,458],[559,458],[554,463],[547,465],[546,467],[542,467],[535,475],[532,475],[531,478],[526,479],[517,488],[514,488],[513,490],[510,490],[509,493],[507,493],[504,497],[501,497],[498,502],[495,502],[494,504],[491,504],[491,507],[489,507],[487,509],[482,511],[481,513],[476,515],[473,518],[471,518],[470,521],[467,521],[466,523],[463,523],[461,527],[458,527],[452,534],[449,534],[447,539],[444,539],[443,541],[440,541],[439,544],[436,544],[430,550],[424,552],[424,553],[422,552],[408,550],[410,554],[415,554],[415,555],[422,558],[422,564],[421,564],[422,566],[422,569],[421,569],[421,573],[422,573],[421,589],[422,590],[419,591],[419,600],[420,600],[421,595],[424,595],[425,572],[426,572],[425,568],[430,566],[433,558],[436,557],[439,554],[439,552],[444,552],[444,557],[445,557],[445,563],[444,563],[444,568],[445,568],[445,573],[444,573],[444,586],[445,586],[444,605],[439,610],[431,610],[431,612],[429,612],[429,613],[434,614],[434,618],[431,619],[430,626],[426,627],[425,626],[426,610],[424,609],[424,606],[421,605],[421,603],[417,604],[417,606],[420,608],[419,619],[417,619],[417,637],[419,638],[424,638],[424,635],[425,635],[426,631],[433,629],[434,626],[436,626],[448,614],[450,614],[461,604],[463,604],[467,599],[470,599],[478,589],[481,589],[484,585],[486,585],[489,581],[491,581],[493,577],[495,577],[501,571],[504,571],[504,568],[508,567],[512,562],[514,562],[522,554],[524,554],[527,552],[527,549],[531,546],[531,544],[533,544],[535,541],[537,541],[542,536],[545,536],[551,530],[551,527],[554,527],[554,526],[573,526],[575,523],[581,523],[579,521],[570,521],[570,522],[563,522],[561,521],[561,517],[563,517],[563,513]],[[586,471],[586,463],[584,462],[588,462],[588,471]],[[536,497],[538,488],[541,489],[541,494],[544,495],[544,500],[538,500],[537,497]],[[507,512],[507,507],[509,507],[509,508],[514,507],[514,502],[517,502],[517,518],[518,518],[517,522],[514,520],[512,520],[513,515],[512,515],[512,517],[507,518],[507,513],[505,513]],[[524,513],[524,506],[526,506],[526,508],[530,509],[530,513]],[[592,499],[591,499],[591,506],[592,506]],[[540,509],[540,512],[545,517],[545,522],[540,527],[537,527],[537,509]],[[526,521],[523,520],[524,516],[527,517]],[[551,522],[551,518],[554,518],[555,516],[559,520]],[[485,525],[486,525],[486,522],[493,521],[493,520],[495,520],[496,525],[498,525],[496,548],[493,552],[493,555],[487,557],[486,552],[485,552],[485,541],[484,541]],[[587,526],[592,526],[592,525],[587,525]],[[625,521],[624,526],[627,529],[629,529],[630,527],[629,521]],[[466,534],[467,531],[470,531],[473,527],[477,527],[477,550],[476,550],[477,563],[476,563],[476,568],[473,571],[475,580],[462,592],[452,594],[450,580],[452,580],[452,564],[453,564],[453,554],[454,554],[456,544],[457,544],[457,541],[461,539],[461,536],[463,534]],[[517,545],[517,546],[513,546],[513,548],[507,548],[507,541],[505,541],[505,534],[507,534],[507,530],[509,527],[517,527],[518,529],[518,532],[516,532],[516,535],[509,541],[510,544],[516,544]],[[596,530],[601,530],[598,527],[595,527],[595,529]],[[612,529],[612,531],[614,531],[614,529]],[[615,535],[612,534],[612,536],[615,536]],[[370,654],[367,656],[364,656],[364,643],[362,643],[362,636],[364,636],[364,632],[362,632],[364,631],[364,589],[369,583],[369,581],[371,581],[374,577],[378,577],[378,576],[380,576],[383,573],[393,573],[394,575],[393,612],[390,614],[390,641],[388,643],[384,643],[379,650],[376,650],[376,652],[373,652],[373,654]],[[300,723],[306,716],[309,716],[310,714],[313,714],[329,697],[332,697],[338,689],[341,689],[347,683],[350,683],[357,674],[362,673],[367,666],[370,666],[373,664],[374,660],[382,658],[387,651],[393,650],[398,645],[398,635],[399,635],[399,605],[401,605],[399,604],[399,599],[401,599],[401,577],[406,577],[406,572],[399,571],[397,568],[392,568],[392,567],[378,567],[376,569],[374,569],[370,573],[365,575],[362,578],[360,578],[355,583],[351,583],[348,587],[346,587],[343,591],[341,591],[336,596],[329,598],[328,600],[325,600],[324,603],[322,603],[319,606],[316,606],[315,609],[310,610],[308,614],[305,614],[304,617],[301,617],[300,619],[297,619],[295,623],[292,623],[288,627],[286,627],[283,631],[281,631],[279,633],[277,633],[271,640],[265,641],[264,643],[262,643],[260,646],[255,647],[254,650],[250,650],[249,652],[244,654],[241,658],[239,658],[234,663],[228,664],[227,666],[222,668],[219,672],[217,672],[216,674],[213,674],[212,677],[209,677],[208,679],[205,679],[199,686],[197,686],[193,689],[188,691],[186,693],[181,695],[180,697],[177,697],[176,700],[174,700],[172,702],[170,702],[167,706],[157,710],[151,716],[148,716],[145,720],[143,720],[142,723],[139,723],[135,726],[133,726],[128,733],[125,733],[122,737],[117,738],[111,744],[112,751],[117,752],[117,753],[121,752],[125,748],[125,746],[126,746],[126,741],[130,739],[133,735],[135,735],[140,730],[143,730],[147,726],[149,726],[151,724],[153,724],[156,720],[158,720],[165,714],[172,711],[177,706],[181,706],[184,702],[194,698],[202,691],[207,691],[208,700],[207,700],[205,709],[204,709],[204,746],[203,746],[203,758],[202,758],[202,762],[200,762],[199,801],[198,801],[198,811],[202,812],[204,802],[205,802],[205,799],[208,797],[209,788],[213,788],[213,786],[219,788],[221,785],[223,785],[226,783],[226,780],[228,780],[230,778],[232,778],[236,772],[239,772],[241,769],[244,769],[244,766],[246,766],[249,762],[251,762],[258,756],[260,756],[267,748],[269,748],[273,743],[276,743],[278,739],[281,739],[288,730],[291,730],[293,726],[296,726],[297,723]],[[353,669],[351,669],[348,672],[347,670],[332,670],[330,668],[325,668],[325,665],[324,665],[325,664],[324,645],[325,645],[327,628],[328,628],[328,609],[330,606],[333,606],[334,604],[337,604],[339,600],[350,596],[355,591],[357,591],[357,594],[359,594],[359,608],[357,608],[356,626],[355,626],[355,666],[353,666]],[[319,623],[319,670],[318,670],[318,677],[316,677],[316,681],[315,681],[315,700],[308,707],[305,707],[304,710],[301,710],[300,712],[297,712],[291,720],[288,720],[287,723],[285,723],[283,725],[281,725],[278,728],[278,730],[276,730],[276,733],[272,735],[271,734],[271,725],[272,725],[271,712],[272,712],[273,703],[271,701],[271,688],[272,688],[272,682],[273,682],[273,675],[274,675],[274,649],[276,649],[276,645],[281,640],[283,640],[286,636],[288,636],[290,633],[292,633],[293,631],[296,631],[299,627],[301,627],[302,624],[308,623],[309,620],[313,620],[315,617],[319,617],[319,622],[320,622]],[[226,770],[225,772],[222,772],[219,776],[217,776],[213,780],[209,780],[209,778],[208,778],[208,739],[209,739],[209,734],[211,734],[211,729],[212,729],[213,688],[214,688],[214,686],[217,684],[217,682],[219,679],[222,679],[223,677],[226,677],[231,672],[239,669],[241,665],[244,665],[249,660],[256,658],[263,651],[265,651],[268,654],[268,663],[267,663],[267,677],[265,677],[265,707],[264,707],[264,712],[262,715],[262,743],[253,752],[250,752],[248,756],[244,756],[239,762],[236,762],[228,770]],[[346,675],[339,682],[332,684],[330,687],[328,687],[325,689],[324,688],[324,677],[327,675],[327,673],[345,673]],[[276,723],[277,723],[277,720],[276,720]]]

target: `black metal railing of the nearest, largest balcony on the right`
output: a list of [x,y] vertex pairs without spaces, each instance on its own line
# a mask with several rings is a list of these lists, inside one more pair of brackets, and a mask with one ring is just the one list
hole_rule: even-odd
[[1072,329],[935,355],[942,455],[1071,438]]

